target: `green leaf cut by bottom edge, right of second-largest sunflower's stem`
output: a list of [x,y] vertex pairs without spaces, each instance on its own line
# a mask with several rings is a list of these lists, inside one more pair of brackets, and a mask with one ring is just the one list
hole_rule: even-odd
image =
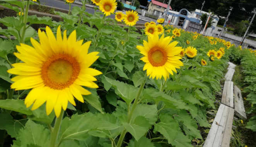
[[151,140],[143,136],[138,141],[130,140],[127,147],[155,147],[155,145]]

